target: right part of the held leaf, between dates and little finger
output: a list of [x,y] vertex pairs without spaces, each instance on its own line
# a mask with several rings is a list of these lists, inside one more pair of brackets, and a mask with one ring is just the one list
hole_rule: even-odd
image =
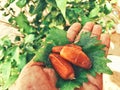
[[77,45],[82,46],[83,51],[89,56],[92,61],[92,69],[96,73],[108,73],[112,74],[112,71],[107,66],[107,63],[110,62],[105,57],[105,51],[103,48],[105,45],[100,44],[100,40],[97,40],[97,37],[90,37],[91,33],[83,33],[81,35],[80,41]]

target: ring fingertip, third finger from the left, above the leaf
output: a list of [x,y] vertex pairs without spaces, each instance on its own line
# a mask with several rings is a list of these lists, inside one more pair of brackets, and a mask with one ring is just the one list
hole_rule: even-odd
[[94,25],[91,36],[97,36],[100,39],[101,32],[102,27],[100,25]]

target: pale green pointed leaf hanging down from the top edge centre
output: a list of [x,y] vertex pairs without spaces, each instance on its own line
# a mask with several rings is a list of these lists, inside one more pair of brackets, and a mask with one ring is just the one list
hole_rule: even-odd
[[57,3],[58,8],[60,9],[64,18],[66,18],[66,3],[67,0],[55,0]]

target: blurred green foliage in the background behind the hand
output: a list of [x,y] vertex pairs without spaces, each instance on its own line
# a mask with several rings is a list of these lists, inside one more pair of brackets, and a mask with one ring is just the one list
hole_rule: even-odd
[[[21,8],[17,16],[9,8],[13,3]],[[38,54],[41,42],[52,28],[66,31],[74,22],[84,25],[93,21],[105,29],[102,18],[112,11],[111,4],[107,0],[7,0],[1,10],[5,17],[10,16],[9,23],[19,28],[24,37],[20,44],[11,43],[7,36],[0,39],[0,87],[5,90],[16,80],[23,66]],[[32,21],[28,20],[28,14],[34,16]]]

